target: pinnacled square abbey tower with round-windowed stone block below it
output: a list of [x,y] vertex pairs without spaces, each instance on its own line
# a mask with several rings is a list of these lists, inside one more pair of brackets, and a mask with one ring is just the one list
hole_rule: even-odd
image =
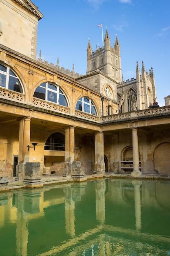
[[121,82],[120,45],[116,37],[115,44],[110,45],[110,37],[106,29],[104,47],[93,52],[90,40],[87,46],[86,75],[79,76],[76,81],[101,94],[101,112],[111,115],[118,112],[117,84]]

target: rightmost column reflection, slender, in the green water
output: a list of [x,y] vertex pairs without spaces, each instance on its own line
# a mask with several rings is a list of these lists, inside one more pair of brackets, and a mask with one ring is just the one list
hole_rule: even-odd
[[136,228],[141,229],[141,192],[140,192],[141,181],[132,180],[132,184],[134,186],[134,196],[135,196]]

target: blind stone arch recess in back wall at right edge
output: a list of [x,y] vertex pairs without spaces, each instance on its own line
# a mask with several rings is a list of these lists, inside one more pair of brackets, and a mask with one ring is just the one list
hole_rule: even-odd
[[156,173],[170,173],[170,142],[163,142],[159,144],[154,151],[154,171]]

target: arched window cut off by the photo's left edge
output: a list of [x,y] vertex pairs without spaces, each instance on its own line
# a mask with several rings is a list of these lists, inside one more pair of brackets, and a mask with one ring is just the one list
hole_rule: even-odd
[[0,64],[0,87],[23,93],[18,76],[15,75],[10,67],[6,67],[2,64]]

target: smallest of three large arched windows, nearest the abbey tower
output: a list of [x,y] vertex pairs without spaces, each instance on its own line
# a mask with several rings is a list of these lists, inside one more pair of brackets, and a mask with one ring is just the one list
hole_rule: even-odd
[[93,104],[93,101],[86,97],[81,97],[77,101],[75,109],[97,116],[97,111],[95,105]]

